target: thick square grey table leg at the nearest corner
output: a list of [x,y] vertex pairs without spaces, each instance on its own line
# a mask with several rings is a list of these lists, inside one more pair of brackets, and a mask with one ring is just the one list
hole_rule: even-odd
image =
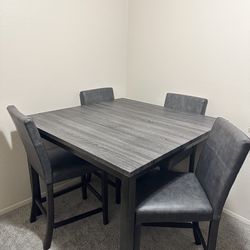
[[121,186],[120,250],[134,249],[136,179],[124,177]]

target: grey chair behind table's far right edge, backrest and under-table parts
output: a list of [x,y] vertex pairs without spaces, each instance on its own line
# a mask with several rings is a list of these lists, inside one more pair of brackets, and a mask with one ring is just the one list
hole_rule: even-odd
[[[167,93],[164,107],[169,110],[191,113],[197,115],[205,115],[208,100],[201,97],[182,95],[176,93]],[[194,171],[196,146],[184,149],[175,154],[171,159],[163,161],[161,169],[173,170],[174,166],[189,157],[189,171]]]

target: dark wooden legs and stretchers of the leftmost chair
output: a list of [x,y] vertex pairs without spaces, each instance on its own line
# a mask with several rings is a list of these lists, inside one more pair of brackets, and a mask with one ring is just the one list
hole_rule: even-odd
[[[107,174],[105,172],[102,173],[102,194],[99,194],[94,187],[90,184],[87,184],[86,175],[81,177],[81,182],[71,185],[65,189],[62,189],[58,192],[54,192],[53,183],[46,184],[46,196],[41,196],[40,189],[40,180],[39,175],[35,171],[35,169],[29,165],[29,173],[30,173],[30,183],[31,183],[31,191],[32,191],[32,206],[30,213],[30,222],[33,223],[37,220],[37,217],[41,214],[45,215],[47,218],[47,229],[46,235],[44,239],[44,249],[49,249],[53,236],[53,229],[58,227],[67,225],[72,222],[76,222],[83,218],[92,216],[94,214],[103,212],[103,224],[108,224],[108,185],[107,185]],[[75,189],[81,188],[83,190],[83,199],[87,199],[87,188],[96,196],[98,200],[102,202],[102,207],[90,210],[85,213],[81,213],[67,219],[55,222],[54,221],[54,198],[61,196],[65,193],[71,192]],[[47,208],[43,206],[43,203],[47,201]]]

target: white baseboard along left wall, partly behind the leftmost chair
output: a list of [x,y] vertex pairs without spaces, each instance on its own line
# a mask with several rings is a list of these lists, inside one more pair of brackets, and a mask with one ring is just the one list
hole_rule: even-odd
[[[67,181],[65,183],[62,183],[62,184],[59,184],[59,185],[55,186],[54,190],[59,191],[60,189],[66,188],[67,186],[70,186],[70,185],[73,185],[73,184],[76,184],[77,182],[79,182],[79,180],[76,180],[76,179]],[[45,196],[45,192],[42,193],[42,196]],[[0,216],[4,215],[4,214],[7,214],[7,213],[9,213],[9,212],[11,212],[11,211],[13,211],[13,210],[15,210],[17,208],[23,207],[23,206],[25,206],[25,205],[27,205],[29,203],[31,203],[31,197],[29,197],[28,199],[25,199],[23,201],[19,201],[19,202],[15,203],[13,205],[10,205],[10,206],[8,206],[6,208],[1,209],[0,210]]]

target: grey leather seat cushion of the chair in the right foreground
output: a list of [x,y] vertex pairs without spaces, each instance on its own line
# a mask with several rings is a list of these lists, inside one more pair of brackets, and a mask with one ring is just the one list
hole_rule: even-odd
[[151,171],[137,181],[138,224],[206,221],[212,214],[207,195],[193,173]]

